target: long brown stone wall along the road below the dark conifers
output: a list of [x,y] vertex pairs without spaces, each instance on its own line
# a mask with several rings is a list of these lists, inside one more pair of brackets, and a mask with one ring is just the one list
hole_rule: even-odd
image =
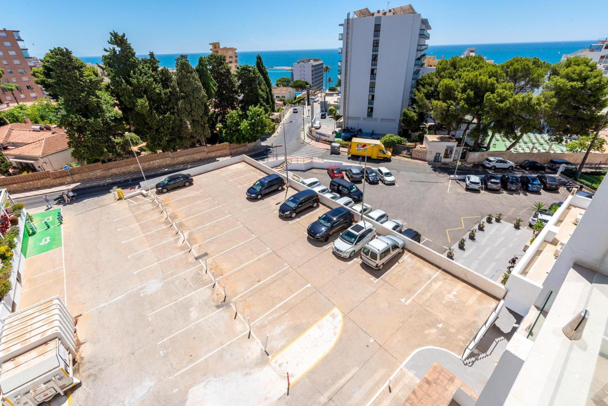
[[[178,165],[203,159],[245,154],[250,150],[254,150],[259,145],[260,141],[238,145],[197,146],[188,150],[140,156],[139,162],[145,172],[167,165]],[[10,193],[18,193],[68,185],[74,182],[91,181],[93,179],[107,179],[108,177],[111,178],[120,174],[139,172],[139,165],[137,165],[137,160],[133,157],[108,163],[91,163],[90,165],[72,168],[69,172],[67,173],[65,170],[41,171],[25,175],[2,177],[0,178],[0,188],[6,188]],[[70,174],[74,178],[74,181],[70,178]]]

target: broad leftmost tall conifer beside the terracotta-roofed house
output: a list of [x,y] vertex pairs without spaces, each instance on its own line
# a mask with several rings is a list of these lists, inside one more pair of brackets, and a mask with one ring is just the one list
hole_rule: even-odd
[[59,125],[68,136],[77,160],[97,162],[116,153],[114,139],[123,132],[114,98],[102,88],[102,78],[86,72],[83,61],[67,48],[44,55],[36,83],[58,100]]

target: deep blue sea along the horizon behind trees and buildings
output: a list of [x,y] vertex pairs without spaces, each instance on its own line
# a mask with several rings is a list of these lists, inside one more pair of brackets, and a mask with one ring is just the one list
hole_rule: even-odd
[[[496,63],[503,63],[513,57],[539,57],[550,63],[556,63],[561,60],[564,53],[574,52],[575,50],[587,48],[593,44],[593,40],[589,41],[563,41],[551,43],[513,43],[513,44],[461,44],[461,45],[429,45],[427,55],[437,55],[437,58],[451,58],[454,55],[461,55],[468,47],[477,47],[477,54],[488,57]],[[238,50],[237,50],[238,52]],[[337,49],[299,49],[299,50],[274,50],[274,51],[241,51],[238,52],[238,62],[241,65],[255,64],[257,54],[260,54],[264,60],[266,67],[270,66],[292,66],[297,60],[302,58],[320,58],[323,62],[330,66],[331,71],[328,72],[328,77],[331,77],[333,84],[337,81],[338,61],[342,59],[342,55],[337,53]],[[165,53],[156,55],[161,61],[161,66],[175,67],[175,58],[179,53]],[[198,63],[198,58],[209,55],[209,52],[192,52],[187,53],[188,59],[193,66]],[[137,55],[138,57],[147,57],[147,55]],[[82,57],[81,60],[90,63],[102,63],[102,57]],[[268,69],[268,74],[274,83],[275,80],[282,76],[291,74],[285,69]]]

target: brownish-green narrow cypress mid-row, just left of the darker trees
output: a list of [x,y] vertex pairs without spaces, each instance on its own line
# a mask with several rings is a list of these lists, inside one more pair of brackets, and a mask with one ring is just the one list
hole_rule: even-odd
[[195,69],[188,62],[185,55],[180,55],[175,63],[175,76],[179,88],[179,115],[186,123],[188,131],[185,132],[184,146],[200,140],[206,145],[209,137],[209,123],[207,122],[207,95],[202,88],[201,80]]

